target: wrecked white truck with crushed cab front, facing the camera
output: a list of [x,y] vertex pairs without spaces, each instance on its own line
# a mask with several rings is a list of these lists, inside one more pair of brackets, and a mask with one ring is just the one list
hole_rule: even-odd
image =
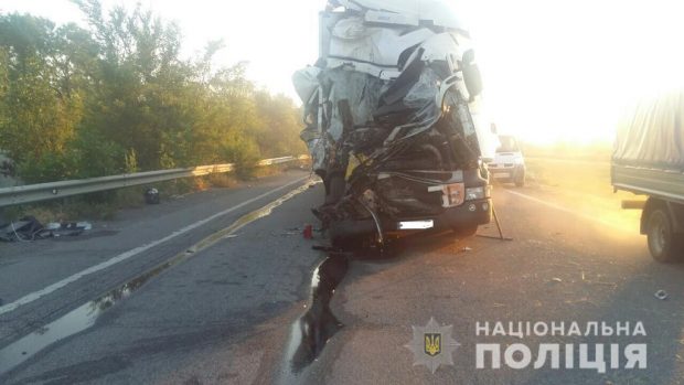
[[319,23],[319,58],[293,83],[301,139],[325,191],[313,212],[333,246],[428,229],[470,236],[489,223],[495,136],[453,10],[436,0],[331,0]]

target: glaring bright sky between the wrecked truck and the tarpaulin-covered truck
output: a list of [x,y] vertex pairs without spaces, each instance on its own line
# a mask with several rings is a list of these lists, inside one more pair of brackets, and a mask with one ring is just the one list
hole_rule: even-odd
[[623,106],[684,85],[678,1],[464,7],[493,119],[526,141],[609,142]]

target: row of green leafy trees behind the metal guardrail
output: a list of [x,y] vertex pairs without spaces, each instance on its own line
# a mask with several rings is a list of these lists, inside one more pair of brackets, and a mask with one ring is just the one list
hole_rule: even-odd
[[24,182],[303,153],[299,108],[214,68],[221,41],[183,58],[177,23],[73,1],[86,28],[0,14],[0,150]]

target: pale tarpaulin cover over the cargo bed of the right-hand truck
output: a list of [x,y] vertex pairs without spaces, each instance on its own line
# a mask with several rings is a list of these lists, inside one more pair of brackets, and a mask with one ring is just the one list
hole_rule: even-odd
[[684,172],[684,90],[641,101],[620,121],[613,163]]

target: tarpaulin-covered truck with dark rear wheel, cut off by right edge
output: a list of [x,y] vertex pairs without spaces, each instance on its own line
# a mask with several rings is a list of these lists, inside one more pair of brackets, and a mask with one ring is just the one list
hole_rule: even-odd
[[641,234],[653,258],[663,263],[684,257],[683,121],[684,90],[643,100],[621,120],[612,154],[614,190],[649,196]]

